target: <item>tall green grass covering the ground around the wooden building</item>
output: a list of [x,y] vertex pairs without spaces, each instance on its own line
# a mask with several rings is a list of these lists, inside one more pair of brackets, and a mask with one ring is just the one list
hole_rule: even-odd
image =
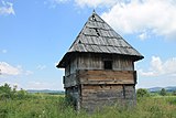
[[0,118],[176,118],[176,96],[143,97],[134,108],[114,105],[88,115],[76,112],[63,95],[33,94],[0,100]]

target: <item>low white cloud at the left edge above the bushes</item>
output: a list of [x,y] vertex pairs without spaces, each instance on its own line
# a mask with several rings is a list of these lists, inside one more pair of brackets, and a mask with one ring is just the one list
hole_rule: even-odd
[[31,71],[24,71],[20,65],[12,66],[7,62],[0,62],[0,73],[1,75],[10,75],[10,76],[33,74],[33,72]]

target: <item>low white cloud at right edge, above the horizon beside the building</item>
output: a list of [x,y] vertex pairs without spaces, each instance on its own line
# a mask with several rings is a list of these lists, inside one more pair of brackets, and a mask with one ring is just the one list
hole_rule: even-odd
[[141,76],[175,76],[176,77],[176,57],[163,62],[158,56],[152,56],[151,65],[147,71],[139,69]]

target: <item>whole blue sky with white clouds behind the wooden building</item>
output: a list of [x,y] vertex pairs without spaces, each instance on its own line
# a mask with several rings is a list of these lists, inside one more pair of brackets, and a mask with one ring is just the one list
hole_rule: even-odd
[[138,88],[176,86],[176,0],[0,0],[0,85],[63,90],[56,64],[94,9],[144,55]]

